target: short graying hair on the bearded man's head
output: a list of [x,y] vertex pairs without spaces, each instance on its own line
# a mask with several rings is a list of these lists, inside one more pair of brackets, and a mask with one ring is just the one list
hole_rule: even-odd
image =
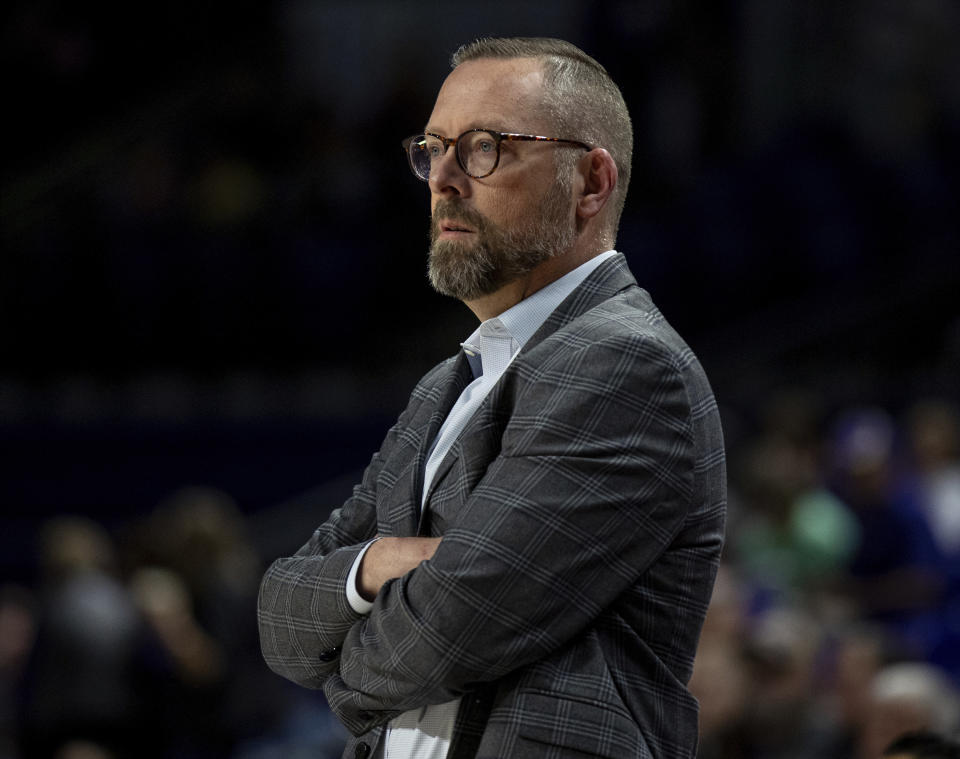
[[542,62],[544,107],[563,134],[606,148],[619,178],[611,198],[616,232],[630,184],[633,125],[620,88],[607,70],[576,45],[549,37],[483,37],[460,47],[453,68],[481,58],[535,58]]

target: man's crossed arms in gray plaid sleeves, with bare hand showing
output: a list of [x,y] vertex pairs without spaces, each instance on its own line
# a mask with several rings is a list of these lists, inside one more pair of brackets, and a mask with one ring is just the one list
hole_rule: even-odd
[[529,376],[491,394],[512,403],[500,448],[442,539],[384,538],[364,556],[369,616],[350,607],[346,579],[376,535],[378,489],[396,481],[413,407],[353,497],[264,577],[268,665],[323,687],[356,734],[556,651],[616,604],[689,513],[691,408],[674,351],[615,334],[586,337],[562,362],[517,364]]

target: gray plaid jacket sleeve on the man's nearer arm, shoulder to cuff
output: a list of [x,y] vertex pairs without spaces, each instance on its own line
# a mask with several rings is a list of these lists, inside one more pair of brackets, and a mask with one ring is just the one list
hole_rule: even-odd
[[354,733],[556,651],[683,526],[692,354],[636,334],[563,353],[537,368],[515,362],[513,380],[504,376],[493,391],[501,399],[526,373],[499,455],[433,558],[388,582],[350,627],[325,691]]

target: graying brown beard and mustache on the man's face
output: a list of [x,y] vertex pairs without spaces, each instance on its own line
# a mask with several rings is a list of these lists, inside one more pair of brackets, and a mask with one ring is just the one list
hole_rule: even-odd
[[[430,224],[430,284],[443,295],[475,300],[565,253],[576,235],[573,220],[566,216],[567,197],[565,188],[551,190],[537,218],[516,230],[502,229],[459,200],[440,201]],[[465,222],[475,230],[472,239],[437,239],[439,218]]]

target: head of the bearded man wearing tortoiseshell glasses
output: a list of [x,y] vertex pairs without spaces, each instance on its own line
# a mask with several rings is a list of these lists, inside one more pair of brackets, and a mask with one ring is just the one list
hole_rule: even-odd
[[[551,259],[559,275],[562,262],[612,247],[633,136],[603,67],[570,43],[530,38],[478,40],[452,62],[425,130],[436,135],[427,146],[434,287],[469,302]],[[489,162],[465,165],[466,140],[451,146],[478,129],[491,134],[471,149],[499,156],[486,175]]]

